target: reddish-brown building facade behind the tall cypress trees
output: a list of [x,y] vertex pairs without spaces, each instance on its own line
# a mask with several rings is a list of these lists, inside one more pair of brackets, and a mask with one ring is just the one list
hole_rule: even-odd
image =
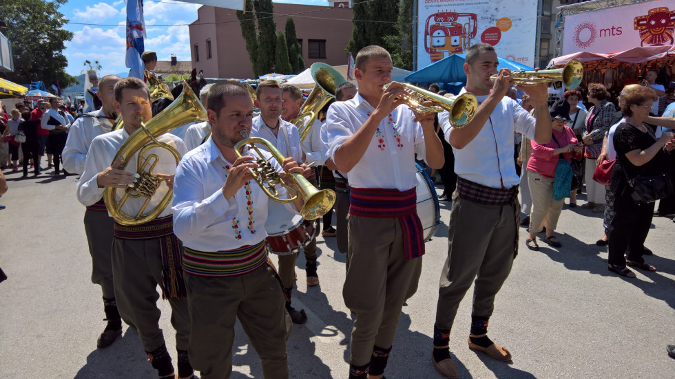
[[[253,78],[253,68],[236,10],[202,6],[189,25],[192,67],[205,78]],[[345,47],[351,38],[353,10],[346,7],[275,3],[277,32],[292,17],[304,64],[347,63]]]

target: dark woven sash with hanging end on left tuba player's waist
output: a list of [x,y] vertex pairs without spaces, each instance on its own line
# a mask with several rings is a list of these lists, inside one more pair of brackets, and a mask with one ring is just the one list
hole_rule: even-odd
[[183,282],[183,250],[178,237],[174,235],[174,218],[162,217],[143,225],[127,226],[115,222],[114,236],[119,239],[159,239],[162,254],[162,299],[180,299],[185,297]]

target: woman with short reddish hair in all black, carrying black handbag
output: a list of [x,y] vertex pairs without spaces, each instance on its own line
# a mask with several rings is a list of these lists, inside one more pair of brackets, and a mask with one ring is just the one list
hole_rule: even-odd
[[[626,119],[614,132],[616,163],[610,184],[614,218],[608,228],[607,269],[622,277],[636,276],[626,266],[656,271],[643,258],[644,243],[652,225],[654,202],[672,192],[672,168],[666,150],[675,148],[673,133],[665,132],[657,139],[645,124],[654,101],[656,94],[650,87],[624,94],[621,110]],[[651,188],[641,185],[645,182],[661,185]],[[660,191],[668,187],[669,190]]]

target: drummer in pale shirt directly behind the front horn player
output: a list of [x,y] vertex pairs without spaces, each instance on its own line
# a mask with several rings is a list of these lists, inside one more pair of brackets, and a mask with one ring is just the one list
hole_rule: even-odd
[[[307,156],[300,147],[298,128],[281,118],[283,96],[281,85],[275,80],[265,80],[258,85],[258,88],[256,88],[257,99],[253,104],[260,109],[260,116],[253,118],[251,137],[264,138],[276,147],[284,157],[293,158],[295,162],[304,162]],[[285,210],[283,204],[276,202],[269,204],[269,212],[273,214],[286,213],[288,219],[293,217]],[[269,224],[266,226],[268,233],[277,232],[276,230],[270,230],[270,226]],[[309,241],[302,250],[304,250],[307,261],[316,261],[315,239]],[[291,306],[291,292],[293,291],[293,283],[295,283],[295,259],[297,258],[298,254],[296,253],[279,255],[279,277],[287,293],[286,309],[291,315],[293,323],[304,324],[307,322],[307,314],[304,310],[298,311]]]

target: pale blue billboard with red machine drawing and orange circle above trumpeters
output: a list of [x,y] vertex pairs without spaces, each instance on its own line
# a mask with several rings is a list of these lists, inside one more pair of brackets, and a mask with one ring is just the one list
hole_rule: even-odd
[[419,0],[417,16],[417,69],[479,42],[503,58],[535,65],[537,0]]

